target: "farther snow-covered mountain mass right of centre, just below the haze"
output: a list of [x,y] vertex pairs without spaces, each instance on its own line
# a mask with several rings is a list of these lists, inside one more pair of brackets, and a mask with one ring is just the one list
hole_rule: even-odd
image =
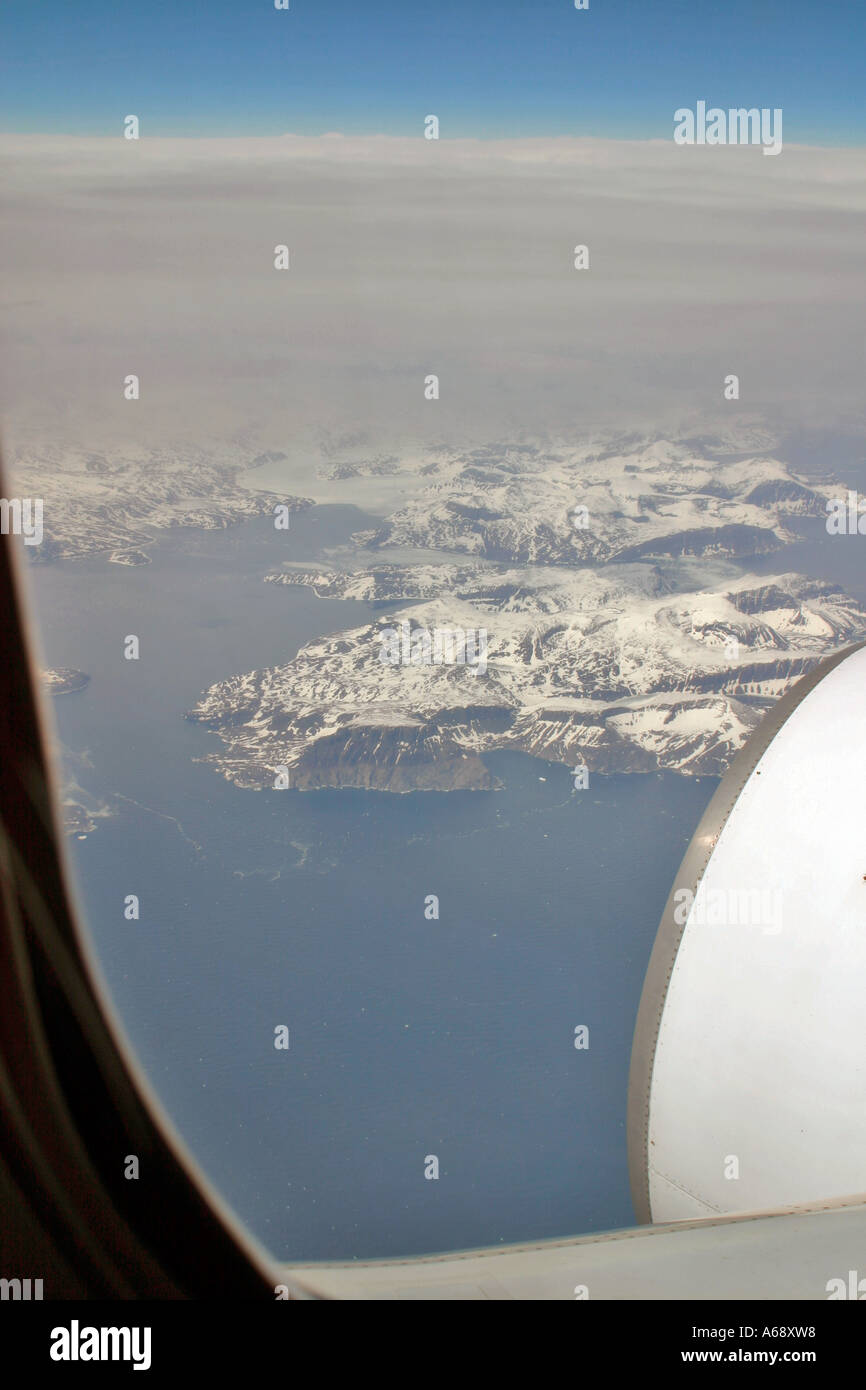
[[669,439],[442,450],[421,475],[424,486],[361,535],[368,546],[525,564],[751,556],[791,539],[788,517],[826,516],[835,495],[777,459],[720,459]]

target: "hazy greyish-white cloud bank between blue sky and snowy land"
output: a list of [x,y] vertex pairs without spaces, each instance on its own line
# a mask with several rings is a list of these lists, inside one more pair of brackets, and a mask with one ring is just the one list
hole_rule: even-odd
[[292,452],[862,418],[866,150],[142,132],[0,136],[13,434]]

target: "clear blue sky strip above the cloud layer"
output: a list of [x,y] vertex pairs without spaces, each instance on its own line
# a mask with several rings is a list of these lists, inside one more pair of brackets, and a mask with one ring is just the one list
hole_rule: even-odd
[[670,138],[783,107],[785,143],[866,143],[866,0],[3,0],[0,129]]

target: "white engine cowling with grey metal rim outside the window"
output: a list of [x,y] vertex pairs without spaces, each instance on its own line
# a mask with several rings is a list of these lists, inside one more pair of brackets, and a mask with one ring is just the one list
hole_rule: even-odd
[[723,778],[659,927],[628,1095],[638,1220],[866,1190],[866,645]]

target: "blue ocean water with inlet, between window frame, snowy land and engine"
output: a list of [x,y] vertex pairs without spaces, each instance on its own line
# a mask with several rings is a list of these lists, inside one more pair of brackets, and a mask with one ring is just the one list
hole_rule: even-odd
[[183,712],[211,681],[368,620],[261,584],[366,523],[317,507],[288,535],[168,532],[150,566],[31,570],[46,663],[92,677],[54,701],[67,774],[107,812],[71,841],[92,947],[186,1143],[278,1257],[630,1225],[634,1017],[714,780],[574,791],[500,753],[496,792],[253,792],[196,762],[220,742]]

